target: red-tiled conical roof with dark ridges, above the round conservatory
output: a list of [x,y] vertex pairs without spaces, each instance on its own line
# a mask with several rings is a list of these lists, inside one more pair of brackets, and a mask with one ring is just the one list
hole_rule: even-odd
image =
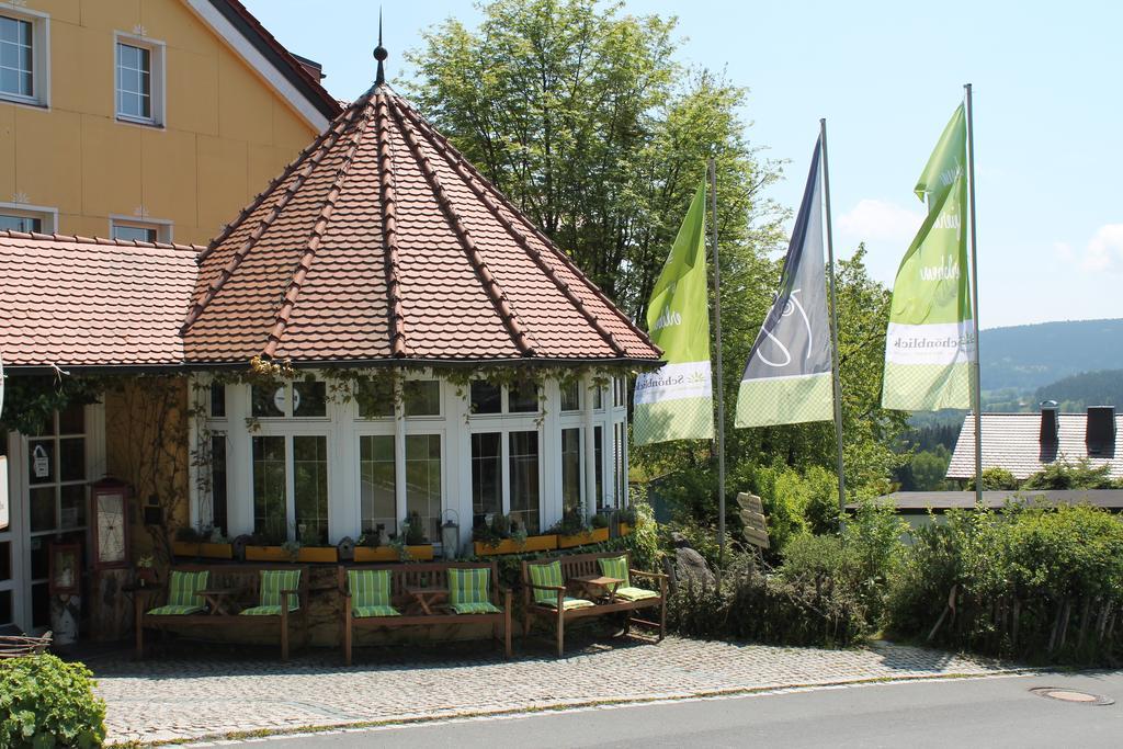
[[639,362],[658,349],[376,84],[200,255],[191,363]]

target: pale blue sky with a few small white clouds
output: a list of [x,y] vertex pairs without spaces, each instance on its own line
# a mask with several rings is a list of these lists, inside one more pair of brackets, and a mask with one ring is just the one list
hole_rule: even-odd
[[[246,0],[293,52],[323,64],[341,99],[374,77],[378,4]],[[387,76],[402,52],[466,1],[384,3]],[[800,200],[825,117],[836,250],[865,240],[891,284],[921,220],[912,186],[975,86],[983,328],[1123,317],[1123,3],[718,2],[630,0],[678,17],[679,62],[725,70],[750,89],[750,141],[787,159],[770,197]]]

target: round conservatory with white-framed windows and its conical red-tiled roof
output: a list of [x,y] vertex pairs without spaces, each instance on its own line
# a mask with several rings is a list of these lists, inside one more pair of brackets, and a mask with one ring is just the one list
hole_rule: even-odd
[[[385,84],[201,253],[182,336],[192,523],[305,546],[620,508],[627,372],[659,355]],[[291,369],[221,376],[250,359]]]

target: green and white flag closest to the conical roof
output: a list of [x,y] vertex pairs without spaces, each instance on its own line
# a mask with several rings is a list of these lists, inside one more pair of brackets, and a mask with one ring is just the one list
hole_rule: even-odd
[[636,381],[632,439],[713,439],[704,180],[655,282],[647,329],[666,364]]

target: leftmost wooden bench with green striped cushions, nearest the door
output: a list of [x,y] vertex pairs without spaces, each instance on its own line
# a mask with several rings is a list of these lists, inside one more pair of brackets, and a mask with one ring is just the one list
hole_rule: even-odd
[[[282,591],[282,595],[295,593],[300,605],[295,611],[289,611],[287,606],[280,608],[280,614],[266,615],[239,615],[238,612],[256,606],[261,600],[262,573],[265,570],[300,570],[300,583],[294,591]],[[308,567],[301,565],[175,565],[172,572],[198,573],[207,570],[210,579],[207,590],[221,591],[223,595],[210,596],[207,601],[208,610],[192,614],[149,614],[148,611],[166,601],[166,584],[163,590],[154,588],[155,595],[136,596],[136,655],[144,658],[144,630],[166,629],[182,624],[204,625],[204,627],[246,627],[262,623],[275,623],[281,632],[281,659],[289,659],[289,621],[299,620],[300,629],[308,634]],[[171,579],[171,572],[168,573]],[[229,594],[226,594],[229,592]],[[217,605],[216,605],[217,604]],[[221,606],[223,610],[217,610]]]

